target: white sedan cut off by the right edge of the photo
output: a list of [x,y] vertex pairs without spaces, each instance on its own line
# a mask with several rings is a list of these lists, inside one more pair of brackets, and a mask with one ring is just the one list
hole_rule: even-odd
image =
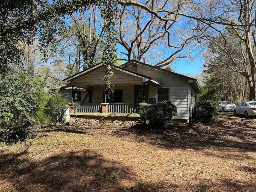
[[241,102],[234,108],[234,115],[244,115],[246,118],[256,115],[256,101]]

